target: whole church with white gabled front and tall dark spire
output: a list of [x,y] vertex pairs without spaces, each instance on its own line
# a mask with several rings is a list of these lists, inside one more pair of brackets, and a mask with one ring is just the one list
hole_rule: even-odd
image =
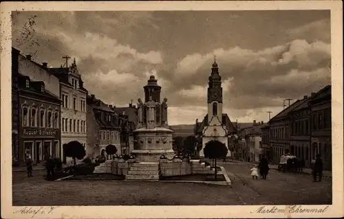
[[[203,150],[208,141],[221,141],[228,148],[230,146],[230,136],[235,135],[237,132],[228,115],[222,112],[223,96],[221,84],[219,68],[215,61],[211,68],[211,76],[209,76],[208,82],[208,113],[202,122],[198,122],[198,119],[196,119],[195,124],[197,151],[200,152],[200,157],[204,157]],[[230,150],[228,150],[227,157],[231,157]]]

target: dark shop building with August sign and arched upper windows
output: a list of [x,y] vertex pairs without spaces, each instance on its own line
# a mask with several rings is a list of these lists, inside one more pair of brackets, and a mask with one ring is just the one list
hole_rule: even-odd
[[61,157],[61,100],[45,90],[43,81],[19,75],[19,162],[36,163]]

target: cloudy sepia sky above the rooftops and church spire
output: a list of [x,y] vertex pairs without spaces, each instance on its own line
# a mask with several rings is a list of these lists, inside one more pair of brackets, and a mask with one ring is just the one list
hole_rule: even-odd
[[155,75],[171,125],[204,117],[214,55],[233,122],[266,122],[283,99],[330,84],[325,10],[15,12],[12,21],[14,47],[53,67],[76,58],[86,89],[107,104],[136,103]]

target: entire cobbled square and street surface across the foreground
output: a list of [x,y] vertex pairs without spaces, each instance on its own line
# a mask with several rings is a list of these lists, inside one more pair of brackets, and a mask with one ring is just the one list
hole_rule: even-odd
[[[253,181],[248,163],[219,163],[232,187],[197,183],[45,181],[45,171],[13,172],[13,205],[330,205],[331,178],[270,170]],[[113,191],[113,192],[105,192]]]

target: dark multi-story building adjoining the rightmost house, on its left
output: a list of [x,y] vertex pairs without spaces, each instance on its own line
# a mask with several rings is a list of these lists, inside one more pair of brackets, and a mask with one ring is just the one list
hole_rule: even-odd
[[290,112],[290,153],[310,167],[310,97],[304,96],[301,104]]

